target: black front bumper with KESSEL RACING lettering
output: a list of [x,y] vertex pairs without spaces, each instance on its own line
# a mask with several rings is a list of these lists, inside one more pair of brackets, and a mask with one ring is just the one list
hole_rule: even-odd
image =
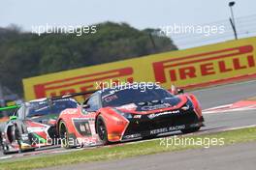
[[179,110],[178,112],[174,111],[170,112],[170,114],[160,112],[155,115],[142,115],[140,119],[130,119],[121,141],[204,126],[204,118],[198,118],[197,114],[192,109],[186,111]]

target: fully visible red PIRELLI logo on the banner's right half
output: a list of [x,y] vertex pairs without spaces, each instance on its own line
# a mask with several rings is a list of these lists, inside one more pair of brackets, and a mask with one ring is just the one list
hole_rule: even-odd
[[216,73],[227,74],[255,69],[255,58],[252,52],[252,45],[242,45],[155,62],[153,63],[155,80],[166,83],[169,76],[171,82],[176,82]]

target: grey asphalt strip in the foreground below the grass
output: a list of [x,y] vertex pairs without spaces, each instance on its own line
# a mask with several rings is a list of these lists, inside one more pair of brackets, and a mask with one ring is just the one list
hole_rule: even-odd
[[255,170],[255,148],[256,143],[243,143],[150,156],[134,156],[125,160],[79,163],[50,167],[45,170]]

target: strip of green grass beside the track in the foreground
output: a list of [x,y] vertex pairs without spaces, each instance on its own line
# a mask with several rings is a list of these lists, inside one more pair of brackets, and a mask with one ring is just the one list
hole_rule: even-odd
[[[179,139],[193,139],[194,141],[203,141],[205,139],[222,139],[225,145],[236,144],[240,142],[256,141],[256,128],[243,128],[230,131],[224,131],[212,134],[202,134],[193,136],[178,137]],[[174,139],[174,136],[173,136]],[[169,140],[170,137],[169,137]],[[162,143],[161,143],[162,141]],[[161,144],[161,145],[160,145]],[[166,144],[166,141],[165,141]],[[220,143],[219,143],[220,144]],[[174,152],[187,149],[204,148],[205,146],[199,145],[163,145],[163,139],[151,140],[141,143],[132,143],[121,146],[112,146],[104,148],[96,148],[90,150],[83,150],[78,152],[72,152],[62,155],[54,156],[41,156],[32,158],[22,158],[19,160],[8,160],[0,163],[0,169],[12,170],[12,169],[34,169],[45,168],[56,165],[67,165],[79,162],[89,162],[98,160],[120,159],[129,156],[142,156],[152,155],[162,152]]]

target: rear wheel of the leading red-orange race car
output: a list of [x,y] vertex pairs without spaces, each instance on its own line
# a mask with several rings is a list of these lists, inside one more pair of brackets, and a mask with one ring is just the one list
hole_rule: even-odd
[[69,145],[69,131],[66,127],[66,124],[64,121],[60,121],[59,123],[59,137],[61,139],[61,145],[66,149],[71,149],[74,146]]

